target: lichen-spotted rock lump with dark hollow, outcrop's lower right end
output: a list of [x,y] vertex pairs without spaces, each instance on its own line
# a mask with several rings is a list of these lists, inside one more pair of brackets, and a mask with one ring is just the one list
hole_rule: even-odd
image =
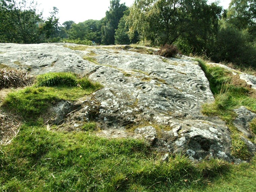
[[192,160],[222,158],[232,160],[228,128],[209,121],[185,120],[172,122],[170,131],[163,131],[157,145],[169,152],[186,153]]

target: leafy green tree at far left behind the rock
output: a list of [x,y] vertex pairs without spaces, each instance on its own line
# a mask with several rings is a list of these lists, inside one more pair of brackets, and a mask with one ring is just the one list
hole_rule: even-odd
[[42,13],[37,13],[36,3],[26,0],[0,0],[1,42],[37,43],[41,41]]

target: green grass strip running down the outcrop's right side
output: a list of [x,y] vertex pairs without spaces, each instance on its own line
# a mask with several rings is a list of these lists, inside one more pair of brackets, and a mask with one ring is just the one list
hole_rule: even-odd
[[[243,160],[249,159],[252,154],[248,151],[246,143],[241,139],[240,135],[242,133],[232,123],[236,117],[233,109],[245,106],[249,110],[256,112],[256,99],[250,97],[248,88],[232,84],[230,71],[221,67],[207,66],[202,59],[195,60],[199,62],[209,80],[210,89],[215,97],[214,103],[206,103],[202,106],[202,113],[207,116],[218,116],[225,121],[231,130],[231,154]],[[253,122],[251,123],[251,129],[253,132]]]

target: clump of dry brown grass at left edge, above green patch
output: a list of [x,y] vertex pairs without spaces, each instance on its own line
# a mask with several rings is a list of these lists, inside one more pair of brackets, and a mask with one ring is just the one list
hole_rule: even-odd
[[31,85],[31,77],[28,73],[16,69],[0,69],[0,89],[18,88]]

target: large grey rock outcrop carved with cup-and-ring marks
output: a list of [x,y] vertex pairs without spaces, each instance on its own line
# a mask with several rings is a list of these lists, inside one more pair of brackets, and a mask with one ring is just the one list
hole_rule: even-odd
[[192,58],[139,53],[146,47],[80,46],[79,51],[68,46],[77,45],[0,44],[0,63],[31,75],[71,71],[104,86],[76,103],[53,106],[57,115],[52,123],[75,122],[79,129],[95,121],[99,136],[145,138],[159,151],[183,152],[193,160],[234,161],[225,123],[201,114],[201,106],[214,97]]

